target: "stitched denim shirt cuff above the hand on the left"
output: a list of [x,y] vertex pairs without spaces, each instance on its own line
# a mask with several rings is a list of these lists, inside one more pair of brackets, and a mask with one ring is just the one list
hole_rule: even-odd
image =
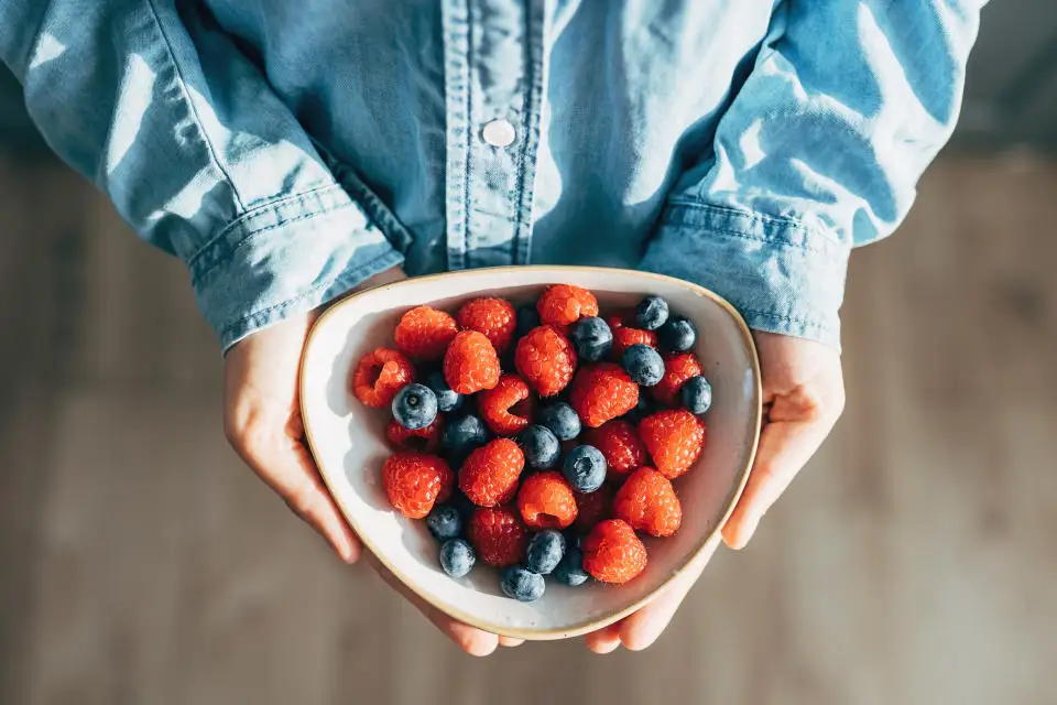
[[227,351],[401,262],[385,235],[331,185],[247,213],[187,265],[198,308]]

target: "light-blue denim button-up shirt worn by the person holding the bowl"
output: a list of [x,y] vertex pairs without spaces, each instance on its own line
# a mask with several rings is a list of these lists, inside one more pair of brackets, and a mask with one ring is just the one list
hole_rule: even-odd
[[839,344],[981,0],[0,0],[54,150],[230,346],[403,263],[641,268]]

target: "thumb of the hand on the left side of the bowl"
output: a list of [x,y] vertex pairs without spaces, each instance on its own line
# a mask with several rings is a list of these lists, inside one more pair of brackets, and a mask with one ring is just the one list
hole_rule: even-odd
[[255,431],[283,427],[277,419],[257,416],[240,435],[236,451],[294,513],[327,540],[338,557],[355,563],[360,556],[360,542],[323,484],[307,448],[284,431],[274,435]]

